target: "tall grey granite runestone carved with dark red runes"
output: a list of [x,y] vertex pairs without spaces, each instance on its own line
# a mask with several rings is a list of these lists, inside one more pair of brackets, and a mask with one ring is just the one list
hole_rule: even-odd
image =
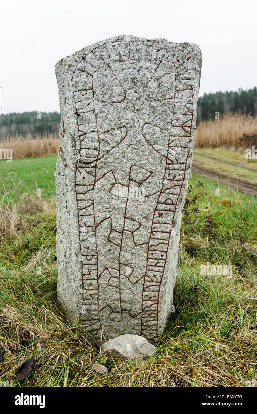
[[[96,338],[101,330],[107,338],[134,333],[151,342],[162,335],[176,278],[200,62],[190,43],[118,36],[56,65],[62,152],[76,141],[74,155],[66,156],[73,156],[71,166],[61,162],[63,154],[57,161],[57,258],[65,262],[58,296],[68,317]],[[75,209],[68,197],[74,243],[61,229],[63,176],[66,191],[72,193],[72,176],[75,188]],[[63,282],[69,283],[64,272],[76,243],[80,308]]]

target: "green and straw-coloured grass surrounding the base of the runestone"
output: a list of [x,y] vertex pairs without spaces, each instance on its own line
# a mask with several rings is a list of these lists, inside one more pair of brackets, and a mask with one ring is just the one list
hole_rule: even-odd
[[[175,313],[149,361],[102,358],[56,303],[55,156],[0,162],[0,380],[29,387],[245,387],[257,380],[257,199],[192,174]],[[37,197],[41,189],[42,197]],[[233,276],[200,266],[233,265]],[[108,374],[93,371],[103,363]]]

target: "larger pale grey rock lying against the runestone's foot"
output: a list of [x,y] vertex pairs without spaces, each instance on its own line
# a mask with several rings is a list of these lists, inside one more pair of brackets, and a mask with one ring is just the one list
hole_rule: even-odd
[[148,359],[156,347],[139,335],[120,335],[102,345],[102,355],[113,358]]

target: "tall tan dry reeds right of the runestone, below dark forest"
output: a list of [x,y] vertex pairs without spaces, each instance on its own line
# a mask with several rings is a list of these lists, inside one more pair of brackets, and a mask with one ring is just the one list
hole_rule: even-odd
[[257,145],[257,118],[228,113],[220,119],[201,120],[195,131],[195,148]]

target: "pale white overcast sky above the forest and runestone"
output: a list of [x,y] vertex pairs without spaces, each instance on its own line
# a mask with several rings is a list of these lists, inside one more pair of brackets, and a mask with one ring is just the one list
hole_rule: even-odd
[[59,111],[54,66],[120,34],[197,43],[204,92],[257,86],[254,0],[21,0],[0,6],[0,113]]

